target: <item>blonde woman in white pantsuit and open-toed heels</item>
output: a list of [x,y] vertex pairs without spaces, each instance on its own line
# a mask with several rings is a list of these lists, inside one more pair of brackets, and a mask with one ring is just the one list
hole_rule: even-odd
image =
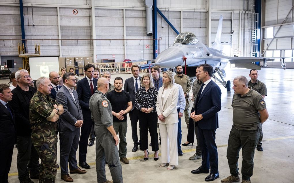
[[159,130],[161,134],[161,165],[167,170],[173,170],[178,165],[178,87],[172,71],[163,72],[163,85],[158,90],[156,112],[158,115]]

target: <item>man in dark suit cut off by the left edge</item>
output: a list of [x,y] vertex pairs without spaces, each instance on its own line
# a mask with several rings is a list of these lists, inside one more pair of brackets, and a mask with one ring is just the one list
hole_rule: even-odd
[[12,99],[11,89],[7,84],[0,84],[0,182],[8,183],[8,173],[11,166],[15,143],[14,112],[7,103]]

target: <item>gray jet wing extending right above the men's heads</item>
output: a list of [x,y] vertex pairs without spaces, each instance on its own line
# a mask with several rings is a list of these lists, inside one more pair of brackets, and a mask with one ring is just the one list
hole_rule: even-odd
[[268,57],[229,57],[231,64],[235,64],[236,67],[242,67],[246,69],[256,69],[260,70],[260,66],[253,64],[252,62],[260,61],[272,61],[273,58]]

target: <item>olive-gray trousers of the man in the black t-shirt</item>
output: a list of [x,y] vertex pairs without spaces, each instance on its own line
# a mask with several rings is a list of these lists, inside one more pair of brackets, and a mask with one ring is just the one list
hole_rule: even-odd
[[118,153],[120,158],[125,158],[127,155],[126,134],[128,129],[128,122],[113,122],[113,128],[116,135],[119,136]]

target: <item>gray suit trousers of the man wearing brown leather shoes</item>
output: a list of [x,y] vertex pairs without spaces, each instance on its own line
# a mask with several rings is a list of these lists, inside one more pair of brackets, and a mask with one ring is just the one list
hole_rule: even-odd
[[76,170],[78,168],[76,151],[78,150],[80,129],[77,128],[75,131],[60,131],[59,137],[61,175],[66,175],[69,174],[69,170]]

